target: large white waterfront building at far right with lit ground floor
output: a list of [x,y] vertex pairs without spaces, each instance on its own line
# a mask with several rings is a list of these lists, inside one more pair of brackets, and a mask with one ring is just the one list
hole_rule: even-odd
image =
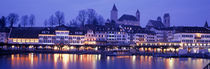
[[204,27],[176,27],[172,42],[179,42],[180,49],[192,53],[209,52],[210,30]]

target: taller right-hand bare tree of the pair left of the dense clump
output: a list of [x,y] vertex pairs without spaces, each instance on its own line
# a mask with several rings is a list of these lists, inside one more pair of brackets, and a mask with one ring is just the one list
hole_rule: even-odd
[[59,26],[64,24],[64,13],[63,12],[60,12],[60,11],[55,12],[55,17],[56,17],[56,21]]

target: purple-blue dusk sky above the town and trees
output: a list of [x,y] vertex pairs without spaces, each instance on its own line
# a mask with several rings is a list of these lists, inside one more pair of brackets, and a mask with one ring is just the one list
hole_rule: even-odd
[[171,26],[203,26],[210,23],[210,0],[1,0],[0,16],[17,13],[19,16],[34,14],[36,25],[43,26],[45,19],[56,11],[65,14],[65,22],[78,15],[79,10],[92,8],[104,19],[110,18],[110,10],[116,4],[120,17],[123,14],[141,13],[141,26],[149,19],[170,13]]

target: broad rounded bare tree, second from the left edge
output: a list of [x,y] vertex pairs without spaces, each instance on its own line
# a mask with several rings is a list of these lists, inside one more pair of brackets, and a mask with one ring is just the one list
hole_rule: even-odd
[[15,13],[10,13],[7,20],[9,21],[10,27],[13,27],[13,25],[18,22],[19,16]]

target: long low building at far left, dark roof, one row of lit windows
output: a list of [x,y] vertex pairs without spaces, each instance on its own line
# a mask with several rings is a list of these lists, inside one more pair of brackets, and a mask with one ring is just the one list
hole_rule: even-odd
[[14,27],[9,32],[9,44],[39,44],[41,27]]

